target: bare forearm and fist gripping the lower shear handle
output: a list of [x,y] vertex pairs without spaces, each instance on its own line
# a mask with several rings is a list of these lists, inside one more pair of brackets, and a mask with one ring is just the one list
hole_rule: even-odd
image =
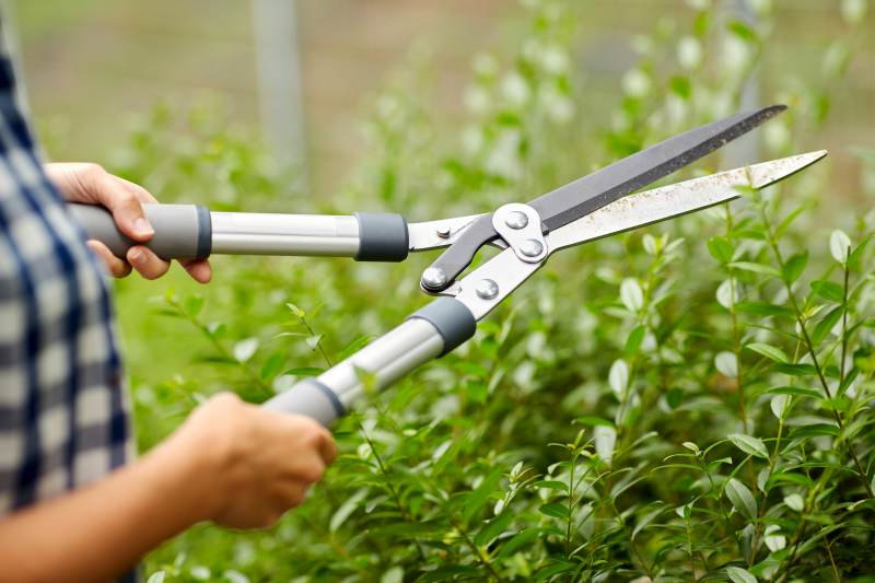
[[315,421],[220,395],[141,460],[0,520],[0,564],[20,582],[105,581],[197,522],[269,526],[335,455]]

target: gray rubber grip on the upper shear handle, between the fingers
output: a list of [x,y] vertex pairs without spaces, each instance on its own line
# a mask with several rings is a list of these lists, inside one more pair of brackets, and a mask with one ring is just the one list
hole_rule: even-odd
[[[73,219],[94,238],[125,258],[137,243],[124,235],[113,215],[95,205],[69,203]],[[210,211],[196,205],[143,205],[155,234],[144,245],[162,259],[206,259],[212,247]]]

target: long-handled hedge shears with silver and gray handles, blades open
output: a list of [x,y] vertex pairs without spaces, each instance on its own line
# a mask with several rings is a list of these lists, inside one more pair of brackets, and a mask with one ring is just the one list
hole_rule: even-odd
[[[638,229],[765,188],[814,164],[816,151],[640,191],[784,110],[781,105],[736,114],[651,145],[527,203],[419,223],[394,213],[351,217],[210,212],[194,205],[145,205],[155,234],[147,244],[164,259],[213,254],[353,257],[401,261],[409,253],[445,248],[421,275],[439,295],[399,326],[316,377],[304,378],[265,406],[310,416],[326,427],[364,392],[390,385],[471,338],[477,322],[545,265],[553,253]],[[102,207],[70,205],[89,238],[119,257],[135,243]],[[501,250],[467,275],[485,245]]]

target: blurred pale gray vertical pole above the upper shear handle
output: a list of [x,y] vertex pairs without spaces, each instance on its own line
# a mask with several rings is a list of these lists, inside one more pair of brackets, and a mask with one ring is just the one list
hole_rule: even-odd
[[307,187],[296,0],[253,0],[261,136]]

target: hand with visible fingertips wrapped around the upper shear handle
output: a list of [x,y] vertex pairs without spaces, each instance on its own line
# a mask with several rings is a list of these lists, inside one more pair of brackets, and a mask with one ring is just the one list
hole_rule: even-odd
[[[97,164],[52,163],[44,166],[46,174],[67,200],[103,205],[112,213],[119,230],[133,241],[145,243],[155,234],[143,213],[143,202],[158,202],[142,186],[118,176],[113,176]],[[131,267],[145,279],[160,278],[171,264],[163,260],[144,245],[128,249],[127,260],[119,259],[98,241],[89,241],[89,247],[97,254],[109,272],[122,278]],[[212,277],[207,260],[182,263],[192,279],[207,283]]]

